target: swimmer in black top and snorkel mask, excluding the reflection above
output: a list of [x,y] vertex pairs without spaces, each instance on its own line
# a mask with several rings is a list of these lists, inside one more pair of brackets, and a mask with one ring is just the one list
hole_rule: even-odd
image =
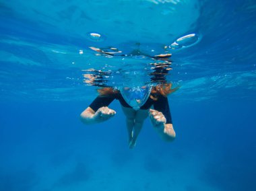
[[[172,126],[172,118],[170,114],[170,108],[168,104],[167,95],[179,89],[175,87],[171,89],[171,83],[163,83],[156,86],[152,86],[148,91],[146,86],[136,87],[135,91],[129,91],[129,87],[125,87],[128,96],[123,96],[123,91],[113,89],[112,87],[103,87],[98,89],[98,97],[90,104],[84,112],[81,114],[81,120],[84,124],[93,124],[98,122],[104,122],[109,118],[115,116],[115,110],[108,108],[108,105],[113,100],[119,100],[123,112],[126,116],[126,125],[128,132],[129,148],[135,147],[137,137],[143,126],[144,120],[150,116],[153,127],[158,132],[158,135],[164,141],[173,141],[176,134]],[[146,95],[145,94],[148,94]],[[143,101],[143,93],[148,96]],[[140,95],[141,94],[141,95]],[[127,103],[127,98],[131,98],[143,105],[139,108],[133,108],[130,103]],[[153,106],[153,109],[152,109]]]

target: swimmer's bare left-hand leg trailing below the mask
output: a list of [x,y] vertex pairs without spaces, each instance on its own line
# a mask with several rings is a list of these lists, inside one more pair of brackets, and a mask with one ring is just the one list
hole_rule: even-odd
[[131,140],[133,138],[133,127],[134,127],[134,120],[135,120],[135,114],[136,111],[132,108],[125,108],[122,106],[123,112],[126,116],[126,126],[127,126],[127,132],[128,132],[128,143],[131,143]]

